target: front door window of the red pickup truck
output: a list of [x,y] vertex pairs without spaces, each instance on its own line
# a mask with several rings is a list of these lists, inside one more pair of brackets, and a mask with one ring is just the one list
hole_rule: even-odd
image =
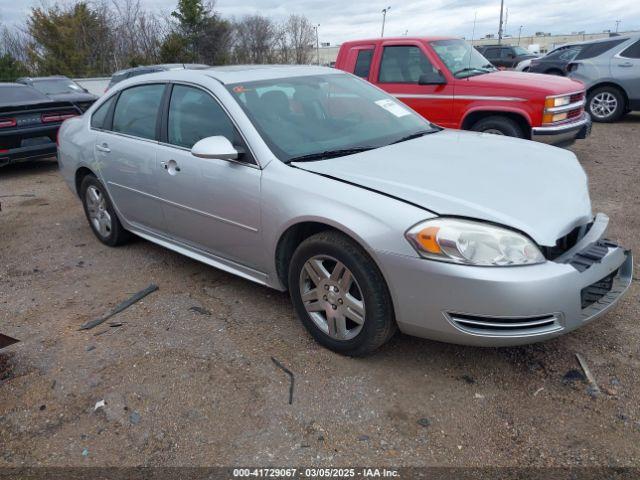
[[418,83],[420,76],[430,71],[435,72],[436,69],[420,48],[409,45],[384,47],[378,81]]

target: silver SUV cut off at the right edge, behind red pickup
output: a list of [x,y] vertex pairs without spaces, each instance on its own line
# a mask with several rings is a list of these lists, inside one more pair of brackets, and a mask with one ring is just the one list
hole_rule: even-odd
[[569,77],[587,87],[587,110],[596,122],[615,122],[640,110],[640,35],[589,59],[577,56],[567,66]]

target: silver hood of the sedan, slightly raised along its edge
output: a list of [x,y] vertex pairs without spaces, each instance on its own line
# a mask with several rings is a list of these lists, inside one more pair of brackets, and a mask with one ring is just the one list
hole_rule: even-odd
[[575,155],[527,140],[443,130],[355,155],[293,165],[438,215],[515,228],[545,246],[555,245],[592,218],[587,177]]

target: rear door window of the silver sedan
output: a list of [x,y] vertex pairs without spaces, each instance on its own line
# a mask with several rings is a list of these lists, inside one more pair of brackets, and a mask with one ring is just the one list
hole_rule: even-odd
[[123,90],[113,113],[113,131],[155,139],[164,88],[153,84]]

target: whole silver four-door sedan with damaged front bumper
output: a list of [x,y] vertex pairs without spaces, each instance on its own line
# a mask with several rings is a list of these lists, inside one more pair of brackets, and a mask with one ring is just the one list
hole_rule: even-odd
[[632,278],[568,151],[443,130],[320,67],[221,67],[119,83],[59,136],[97,238],[131,234],[290,292],[322,345],[399,328],[469,345],[556,337]]

